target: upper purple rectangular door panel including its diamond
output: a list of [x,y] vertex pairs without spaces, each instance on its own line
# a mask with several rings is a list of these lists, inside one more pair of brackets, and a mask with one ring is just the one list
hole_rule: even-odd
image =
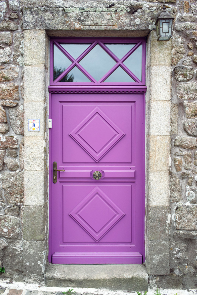
[[62,103],[62,164],[131,163],[134,104]]

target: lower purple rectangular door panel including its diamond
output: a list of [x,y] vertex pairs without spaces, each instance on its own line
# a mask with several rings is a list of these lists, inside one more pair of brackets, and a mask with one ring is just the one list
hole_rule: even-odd
[[133,242],[134,183],[63,184],[63,242]]

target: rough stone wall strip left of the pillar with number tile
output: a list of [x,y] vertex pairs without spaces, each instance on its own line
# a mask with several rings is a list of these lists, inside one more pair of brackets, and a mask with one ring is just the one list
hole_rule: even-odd
[[0,266],[23,273],[23,32],[16,1],[0,2]]

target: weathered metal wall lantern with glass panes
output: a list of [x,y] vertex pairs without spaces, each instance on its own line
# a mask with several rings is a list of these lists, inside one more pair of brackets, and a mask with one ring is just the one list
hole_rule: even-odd
[[157,41],[162,40],[170,40],[172,37],[172,29],[173,24],[172,21],[174,17],[172,17],[167,11],[167,6],[165,5],[165,1],[162,6],[162,10],[156,14],[156,31],[157,31]]

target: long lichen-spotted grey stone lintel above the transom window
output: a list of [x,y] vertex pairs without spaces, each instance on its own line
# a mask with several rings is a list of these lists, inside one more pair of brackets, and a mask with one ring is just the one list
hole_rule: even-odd
[[[154,16],[161,5],[148,3],[143,9],[139,1],[116,3],[114,7],[106,7],[105,1],[96,6],[92,1],[83,7],[73,1],[71,6],[56,7],[25,7],[23,8],[23,28],[44,30],[150,30]],[[130,5],[129,5],[130,4]],[[63,4],[64,5],[64,4]],[[156,8],[156,9],[155,9]],[[139,11],[140,14],[134,14]],[[132,15],[132,20],[131,20]]]

